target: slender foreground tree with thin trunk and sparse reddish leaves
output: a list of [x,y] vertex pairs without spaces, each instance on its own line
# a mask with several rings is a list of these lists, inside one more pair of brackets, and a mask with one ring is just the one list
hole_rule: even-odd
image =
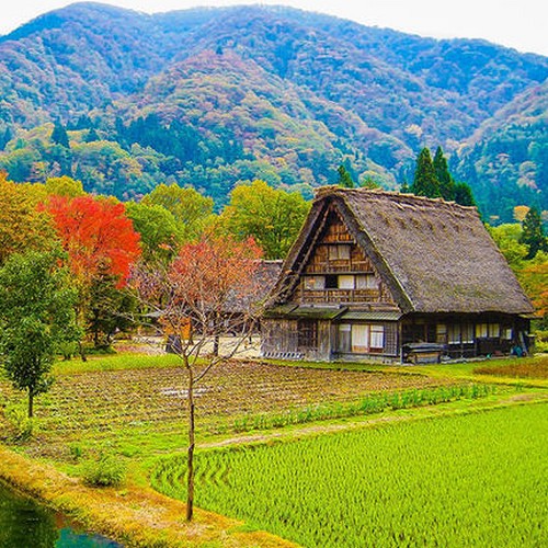
[[[135,271],[139,300],[160,317],[187,374],[187,521],[194,507],[195,388],[213,367],[232,357],[251,332],[260,256],[252,239],[208,237],[184,244],[170,267],[141,265]],[[238,302],[244,306],[236,312]],[[208,352],[207,345],[215,347],[227,331],[237,333],[232,345]]]

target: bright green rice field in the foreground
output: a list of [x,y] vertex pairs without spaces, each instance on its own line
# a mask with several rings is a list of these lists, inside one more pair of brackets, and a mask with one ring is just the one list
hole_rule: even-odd
[[[196,455],[196,504],[305,547],[540,547],[548,404]],[[184,458],[152,484],[185,496]]]

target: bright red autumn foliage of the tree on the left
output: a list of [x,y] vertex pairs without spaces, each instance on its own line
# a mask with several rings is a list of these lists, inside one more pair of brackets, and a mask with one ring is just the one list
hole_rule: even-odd
[[104,264],[126,284],[132,264],[140,255],[139,235],[118,202],[92,196],[52,196],[45,205],[52,215],[76,276],[90,281]]

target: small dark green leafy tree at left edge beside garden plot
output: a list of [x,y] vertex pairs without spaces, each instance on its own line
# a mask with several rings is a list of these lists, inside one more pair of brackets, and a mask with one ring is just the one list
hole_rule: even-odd
[[12,255],[0,270],[0,353],[8,378],[34,398],[45,392],[61,342],[75,341],[77,294],[58,252]]

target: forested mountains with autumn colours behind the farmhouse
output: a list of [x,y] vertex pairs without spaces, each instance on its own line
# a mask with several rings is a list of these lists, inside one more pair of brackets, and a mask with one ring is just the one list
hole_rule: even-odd
[[[289,8],[77,3],[0,38],[0,167],[20,180],[69,172],[126,198],[192,183],[222,203],[256,176],[310,193],[342,162],[396,187],[421,147],[442,145],[459,179],[473,167],[475,189],[491,169],[489,181],[517,185],[514,205],[548,208],[538,153],[526,160],[535,189],[478,159],[489,127],[520,117],[533,90],[546,99],[547,77],[543,56]],[[56,121],[70,151],[43,138]],[[546,150],[541,132],[524,135],[507,139]]]

